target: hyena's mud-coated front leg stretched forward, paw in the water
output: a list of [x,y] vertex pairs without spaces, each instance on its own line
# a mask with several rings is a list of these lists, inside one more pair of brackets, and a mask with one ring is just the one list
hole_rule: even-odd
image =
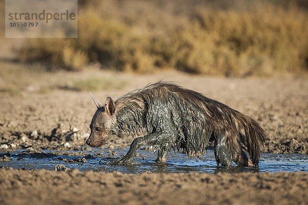
[[[155,132],[143,137],[138,137],[134,139],[130,145],[130,148],[127,154],[122,158],[115,158],[110,161],[109,165],[120,165],[120,164],[131,164],[133,161],[133,157],[136,155],[137,150],[143,145],[153,145],[154,143],[157,144],[164,144],[168,142],[168,138],[166,137],[166,133],[164,132]],[[161,152],[162,159],[167,157],[167,153],[164,154]]]

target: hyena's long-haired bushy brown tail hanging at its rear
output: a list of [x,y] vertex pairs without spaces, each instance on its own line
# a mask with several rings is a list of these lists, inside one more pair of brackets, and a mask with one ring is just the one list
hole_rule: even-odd
[[[227,136],[230,155],[237,165],[258,166],[260,150],[267,138],[266,133],[251,117],[239,113],[236,119],[240,125],[239,132],[235,136]],[[246,153],[249,154],[249,158]]]

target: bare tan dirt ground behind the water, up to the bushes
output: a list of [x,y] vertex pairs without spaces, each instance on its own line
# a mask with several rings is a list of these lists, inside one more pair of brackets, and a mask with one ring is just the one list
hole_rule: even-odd
[[[2,67],[10,71],[18,65]],[[88,90],[75,91],[69,87],[69,81],[91,80],[95,76],[103,78],[102,83],[104,79],[124,82],[121,87],[109,86],[114,83],[107,82],[106,90],[89,90],[101,101],[107,96],[117,99],[161,79],[175,81],[255,118],[268,135],[263,152],[308,153],[307,77],[224,78],[171,71],[138,75],[107,71],[21,75],[21,79],[13,81],[19,89],[17,94],[4,89],[0,92],[0,146],[4,149],[90,149],[84,141],[90,132],[95,105]],[[9,85],[6,78],[9,77],[2,80],[3,88]],[[126,147],[130,142],[131,139],[114,138],[105,147]]]

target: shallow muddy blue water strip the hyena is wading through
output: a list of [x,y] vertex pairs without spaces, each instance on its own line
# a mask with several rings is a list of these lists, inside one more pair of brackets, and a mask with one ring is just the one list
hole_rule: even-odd
[[40,153],[29,153],[16,150],[12,153],[0,153],[3,158],[8,155],[9,161],[0,161],[0,167],[13,169],[46,169],[54,170],[56,165],[64,165],[69,169],[80,171],[119,171],[123,173],[140,172],[308,172],[308,156],[301,154],[268,154],[262,153],[259,168],[222,168],[216,166],[214,152],[208,150],[200,158],[187,157],[186,154],[169,153],[166,165],[155,163],[156,155],[152,151],[138,150],[134,165],[110,166],[107,162],[114,157],[123,156],[127,150],[93,149],[92,151],[51,151],[44,150]]

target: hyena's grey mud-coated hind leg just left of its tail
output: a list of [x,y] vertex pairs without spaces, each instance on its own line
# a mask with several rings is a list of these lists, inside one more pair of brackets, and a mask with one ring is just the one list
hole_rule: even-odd
[[214,153],[217,166],[221,163],[224,167],[233,167],[232,158],[227,147],[227,137],[225,135],[216,136]]

